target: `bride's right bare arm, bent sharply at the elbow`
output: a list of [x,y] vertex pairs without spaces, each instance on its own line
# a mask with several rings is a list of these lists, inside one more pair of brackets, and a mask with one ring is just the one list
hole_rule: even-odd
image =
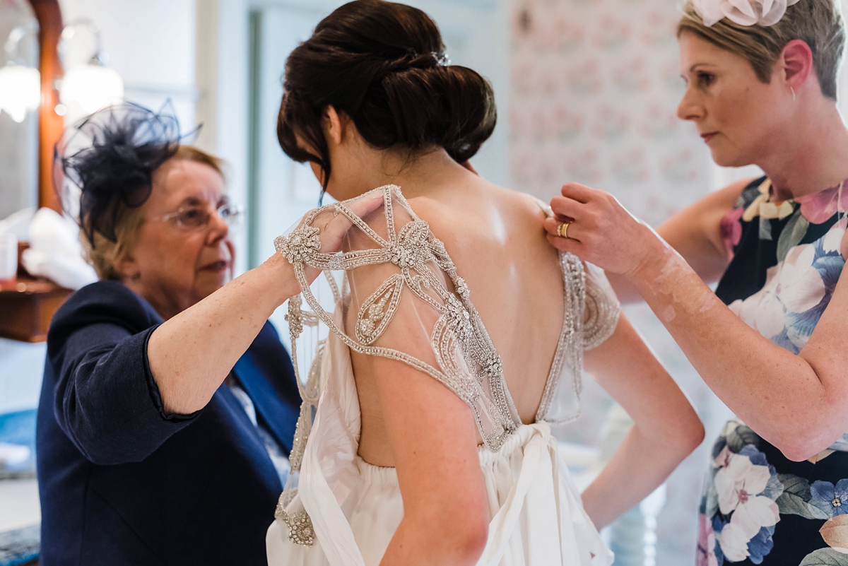
[[623,315],[615,333],[585,354],[586,369],[621,403],[633,428],[583,492],[600,529],[666,480],[704,438],[704,427],[671,375]]

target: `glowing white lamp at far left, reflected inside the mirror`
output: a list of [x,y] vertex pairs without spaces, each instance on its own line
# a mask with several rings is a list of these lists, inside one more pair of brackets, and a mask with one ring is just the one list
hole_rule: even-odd
[[15,122],[23,122],[27,110],[35,110],[42,100],[41,75],[38,69],[18,62],[18,44],[29,31],[23,25],[8,34],[4,51],[6,64],[0,67],[0,112],[5,110]]

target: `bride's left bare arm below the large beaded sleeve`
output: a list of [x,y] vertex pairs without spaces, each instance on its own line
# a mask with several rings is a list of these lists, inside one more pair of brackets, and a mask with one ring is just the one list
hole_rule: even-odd
[[489,511],[471,408],[405,363],[369,361],[404,500],[381,566],[477,563]]

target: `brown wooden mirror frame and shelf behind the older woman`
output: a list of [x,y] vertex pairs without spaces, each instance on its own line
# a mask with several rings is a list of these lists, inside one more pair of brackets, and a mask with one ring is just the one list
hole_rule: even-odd
[[[61,213],[53,185],[53,147],[62,136],[64,120],[56,114],[62,77],[59,37],[62,13],[58,0],[29,0],[38,20],[38,69],[42,75],[42,105],[38,110],[38,206]],[[25,246],[20,247],[20,252]],[[17,280],[0,281],[0,337],[26,342],[47,340],[53,314],[72,291],[47,280],[30,277],[21,268]]]

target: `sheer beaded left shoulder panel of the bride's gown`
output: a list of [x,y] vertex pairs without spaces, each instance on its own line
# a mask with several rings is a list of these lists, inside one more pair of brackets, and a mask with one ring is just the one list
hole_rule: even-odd
[[[382,193],[382,206],[360,218],[353,204],[374,192]],[[350,220],[343,252],[321,252],[318,226],[328,214]],[[382,186],[353,201],[316,208],[275,244],[293,264],[311,316],[350,349],[399,360],[444,383],[471,408],[491,450],[497,451],[516,429],[503,366],[469,299],[468,286],[444,243],[416,216],[398,186]],[[337,325],[321,308],[305,279],[307,267],[343,272],[338,299],[351,314],[347,324]],[[289,302],[293,341],[302,313],[297,299]]]

